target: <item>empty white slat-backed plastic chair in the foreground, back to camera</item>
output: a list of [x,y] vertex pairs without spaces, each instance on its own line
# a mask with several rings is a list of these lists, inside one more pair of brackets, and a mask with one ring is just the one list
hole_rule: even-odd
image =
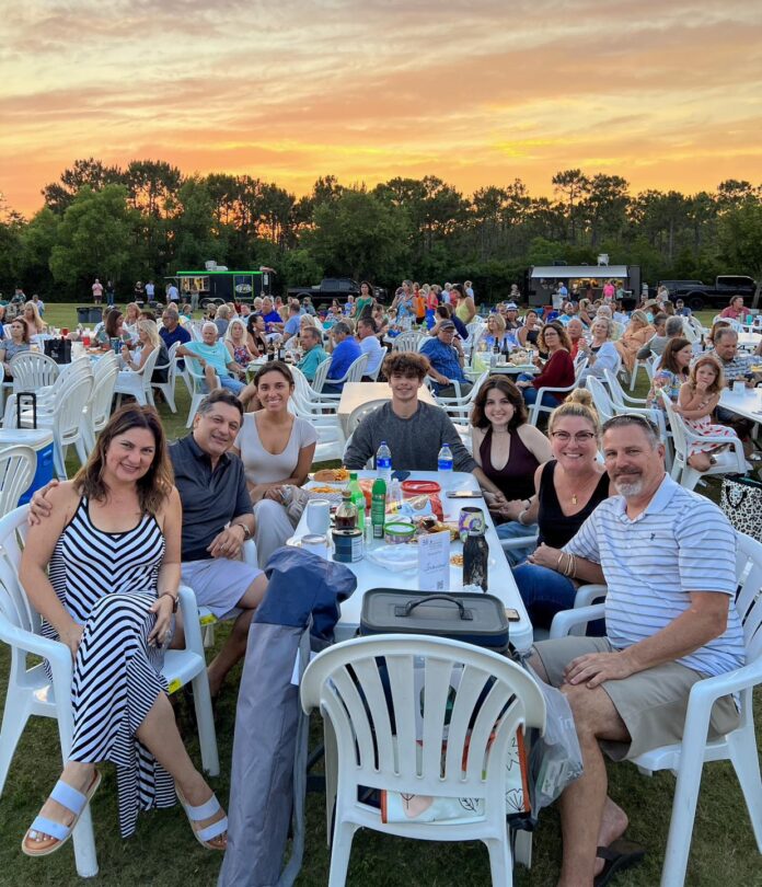
[[[424,676],[420,696],[414,691],[416,665]],[[460,672],[454,690],[453,672]],[[351,840],[362,827],[401,838],[483,841],[493,884],[512,884],[505,792],[510,744],[518,729],[542,732],[545,725],[545,703],[529,672],[455,641],[361,637],[310,663],[301,702],[308,713],[319,707],[324,719],[328,828],[335,817],[330,887],[345,883]],[[484,816],[384,823],[378,808],[359,799],[359,786],[469,797],[484,804]]]

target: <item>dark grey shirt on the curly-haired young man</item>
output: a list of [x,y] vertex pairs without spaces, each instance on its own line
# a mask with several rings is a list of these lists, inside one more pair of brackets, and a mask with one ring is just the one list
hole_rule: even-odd
[[395,471],[436,471],[437,456],[444,444],[452,450],[455,471],[476,468],[450,417],[429,403],[418,402],[418,408],[406,419],[394,413],[391,402],[366,416],[355,429],[344,464],[348,469],[365,468],[384,440]]

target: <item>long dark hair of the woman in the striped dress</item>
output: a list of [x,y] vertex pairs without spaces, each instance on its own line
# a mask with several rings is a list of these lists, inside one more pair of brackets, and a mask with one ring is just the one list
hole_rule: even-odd
[[164,429],[159,414],[152,406],[129,404],[114,413],[101,431],[86,464],[77,472],[73,481],[74,489],[80,496],[86,496],[96,502],[105,502],[108,498],[108,487],[103,481],[106,452],[115,437],[124,435],[132,428],[146,428],[153,435],[155,444],[153,461],[146,474],[137,481],[137,487],[140,510],[143,514],[155,515],[172,492],[174,472],[166,449]]

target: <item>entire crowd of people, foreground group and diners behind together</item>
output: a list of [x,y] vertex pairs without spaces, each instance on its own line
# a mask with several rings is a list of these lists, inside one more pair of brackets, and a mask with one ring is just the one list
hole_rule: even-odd
[[[653,354],[655,407],[666,392],[698,437],[748,437],[718,408],[725,384],[760,381],[732,326],[718,321],[711,349],[696,354],[673,306],[646,301],[625,318],[612,295],[600,304],[563,301],[545,319],[535,311],[520,318],[516,301],[507,301],[477,334],[469,330],[476,315],[469,281],[405,281],[389,309],[372,292],[363,285],[348,308],[332,306],[322,318],[309,300],[222,306],[204,322],[200,341],[171,301],[161,325],[137,304],[124,313],[107,308],[95,341],[104,350],[118,347],[126,371],[139,370],[157,348],[157,365],[165,365],[176,345],[178,358],[197,361],[208,395],[190,434],[172,444],[153,408],[123,407],[73,481],[35,494],[21,580],[46,636],[71,649],[74,737],[60,781],[24,838],[28,855],[67,840],[99,786],[102,761],[117,768],[124,837],[140,809],[171,806],[176,793],[196,838],[224,850],[224,813],[185,751],[161,665],[164,650],[183,643],[181,581],[216,617],[234,619],[209,665],[212,696],[245,654],[267,591],[263,567],[293,533],[291,491],[305,483],[318,442],[313,425],[289,408],[293,366],[313,379],[330,360],[324,390],[340,391],[348,367],[368,355],[367,378],[385,379],[391,399],[360,421],[344,464],[365,468],[385,442],[395,469],[432,471],[448,446],[454,470],[473,474],[483,491],[498,535],[517,543],[506,556],[534,627],[547,629],[573,607],[580,585],[608,587],[605,619],[587,636],[540,642],[532,657],[539,676],[569,701],[585,765],[561,799],[559,884],[592,883],[626,831],[626,814],[608,796],[603,753],[621,760],[679,741],[695,681],[742,665],[732,530],[706,497],[665,472],[656,425],[622,415],[601,426],[584,387],[545,395],[545,431],[528,422],[541,388],[574,385],[575,359],[603,379],[603,370],[632,369]],[[3,362],[28,342],[31,323],[33,315],[11,324]],[[419,350],[388,352],[390,331],[413,323],[427,335]],[[509,336],[512,347],[534,346],[539,372],[515,382],[486,378],[474,392],[470,452],[447,413],[418,392],[427,377],[439,396],[469,392],[471,335],[478,336],[472,349],[482,342],[499,349]],[[273,359],[247,382],[247,365],[266,353]],[[691,463],[706,470],[716,448],[697,445]],[[252,538],[258,565],[241,558]],[[737,722],[734,700],[724,698],[713,735]]]

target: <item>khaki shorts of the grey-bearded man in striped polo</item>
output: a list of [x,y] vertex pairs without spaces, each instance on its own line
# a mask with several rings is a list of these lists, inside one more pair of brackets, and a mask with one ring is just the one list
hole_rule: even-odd
[[[541,641],[534,645],[534,649],[553,687],[564,683],[564,670],[577,656],[614,652],[607,637]],[[653,748],[681,742],[691,688],[705,677],[678,663],[667,663],[622,680],[604,681],[601,687],[624,722],[631,742],[602,741],[603,751],[612,760],[621,761],[637,758]],[[732,696],[718,699],[712,709],[709,739],[729,733],[738,723],[738,709]]]

